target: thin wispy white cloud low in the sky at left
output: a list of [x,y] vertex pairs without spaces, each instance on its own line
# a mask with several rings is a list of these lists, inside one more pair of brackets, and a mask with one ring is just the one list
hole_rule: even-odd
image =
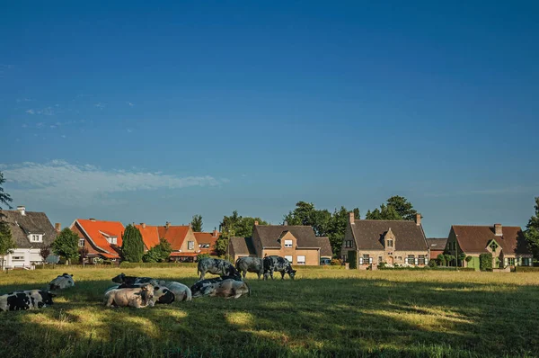
[[[65,137],[65,136],[62,136]],[[17,201],[62,201],[85,205],[101,201],[117,192],[181,189],[191,186],[216,186],[227,183],[212,176],[163,175],[142,171],[103,170],[92,165],[73,165],[64,160],[39,164],[1,165],[9,190]]]

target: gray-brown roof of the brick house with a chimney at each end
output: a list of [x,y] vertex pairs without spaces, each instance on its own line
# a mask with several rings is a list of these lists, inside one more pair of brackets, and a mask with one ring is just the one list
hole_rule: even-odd
[[384,235],[391,228],[395,250],[427,250],[425,233],[411,220],[354,220],[352,229],[356,245],[361,250],[384,250]]

